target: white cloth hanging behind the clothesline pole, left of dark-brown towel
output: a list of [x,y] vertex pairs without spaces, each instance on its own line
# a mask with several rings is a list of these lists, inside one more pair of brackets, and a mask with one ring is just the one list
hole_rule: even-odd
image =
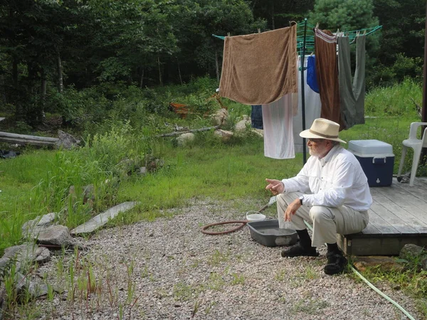
[[[308,72],[310,68],[308,65],[310,63],[310,56],[305,56],[305,63],[307,65],[307,70],[304,71],[304,105],[305,105],[305,128],[310,128],[315,119],[320,117],[320,109],[322,104],[320,103],[320,95],[310,89],[308,85]],[[298,60],[298,68],[300,67],[300,60]],[[302,153],[304,150],[305,144],[303,143],[302,137],[300,137],[300,132],[302,132],[302,90],[301,90],[301,72],[298,72],[298,112],[292,119],[292,131],[294,139],[294,148],[295,152]],[[307,142],[307,140],[306,140]]]

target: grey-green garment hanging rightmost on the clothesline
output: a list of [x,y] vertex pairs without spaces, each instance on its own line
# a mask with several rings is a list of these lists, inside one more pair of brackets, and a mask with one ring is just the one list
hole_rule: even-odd
[[349,38],[338,37],[339,100],[345,129],[364,124],[365,40],[366,36],[356,38],[356,71],[352,83]]

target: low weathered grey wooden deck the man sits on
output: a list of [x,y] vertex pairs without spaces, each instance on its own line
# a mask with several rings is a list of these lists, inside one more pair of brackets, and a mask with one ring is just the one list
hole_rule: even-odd
[[427,246],[427,178],[417,177],[412,187],[393,178],[371,194],[367,228],[338,241],[347,255],[399,255],[408,243]]

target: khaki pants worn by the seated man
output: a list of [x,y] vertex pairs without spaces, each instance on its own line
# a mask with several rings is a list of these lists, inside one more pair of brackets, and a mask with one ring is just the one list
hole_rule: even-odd
[[279,228],[289,228],[290,226],[291,228],[294,227],[295,230],[303,230],[307,228],[304,220],[309,221],[313,226],[313,247],[319,247],[325,242],[335,243],[337,242],[337,234],[359,233],[368,225],[369,215],[367,211],[357,211],[347,206],[339,206],[338,208],[301,206],[295,215],[292,215],[289,224],[285,222],[285,210],[288,208],[288,203],[294,201],[301,194],[292,192],[277,196]]

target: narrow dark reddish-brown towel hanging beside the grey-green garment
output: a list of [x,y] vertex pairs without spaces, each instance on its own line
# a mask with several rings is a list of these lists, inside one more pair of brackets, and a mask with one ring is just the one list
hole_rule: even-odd
[[339,123],[339,129],[342,130],[344,124],[339,109],[337,37],[315,28],[315,54],[317,82],[322,101],[320,116]]

